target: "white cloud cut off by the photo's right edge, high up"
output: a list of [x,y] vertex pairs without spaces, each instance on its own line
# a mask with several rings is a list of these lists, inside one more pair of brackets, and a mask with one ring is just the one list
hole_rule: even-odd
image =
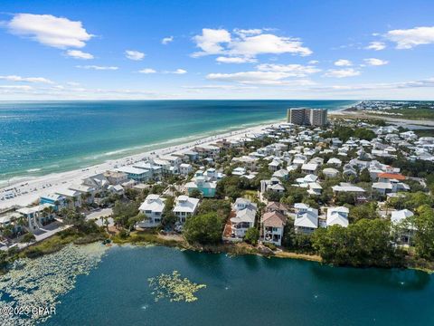
[[397,49],[411,49],[420,44],[434,43],[434,26],[392,30],[385,37],[396,43]]

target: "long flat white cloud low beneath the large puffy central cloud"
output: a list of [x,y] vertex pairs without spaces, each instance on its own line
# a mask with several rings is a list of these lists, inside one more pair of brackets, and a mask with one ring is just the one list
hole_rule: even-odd
[[234,72],[234,73],[210,73],[206,79],[219,82],[239,82],[241,84],[256,85],[310,85],[308,80],[288,81],[288,72]]

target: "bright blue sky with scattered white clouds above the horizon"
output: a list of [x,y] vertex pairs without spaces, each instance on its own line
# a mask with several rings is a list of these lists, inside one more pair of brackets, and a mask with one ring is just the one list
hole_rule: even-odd
[[434,100],[434,2],[8,1],[0,100]]

